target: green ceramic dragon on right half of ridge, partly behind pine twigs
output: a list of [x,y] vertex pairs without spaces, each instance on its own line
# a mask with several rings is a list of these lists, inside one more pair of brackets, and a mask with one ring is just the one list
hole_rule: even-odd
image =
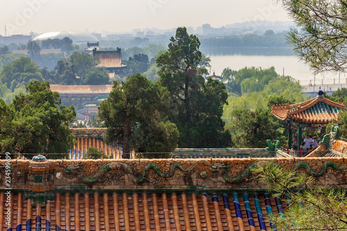
[[[237,182],[242,182],[242,181],[249,181],[249,179],[247,180],[246,178],[252,175],[253,169],[255,169],[255,167],[257,167],[259,164],[273,164],[275,166],[278,166],[278,164],[276,164],[275,162],[272,162],[272,161],[254,162],[253,164],[249,165],[248,168],[246,170],[244,170],[239,176],[235,176],[233,178],[230,178],[230,176],[229,176],[229,173],[231,171],[230,165],[225,165],[224,168],[226,168],[226,171],[223,175],[223,178],[228,183],[237,183]],[[300,168],[305,169],[305,171],[307,171],[307,173],[310,174],[310,176],[316,177],[316,176],[322,176],[325,173],[328,166],[331,166],[333,169],[336,169],[337,171],[346,171],[347,170],[346,165],[342,165],[342,166],[338,167],[333,162],[326,162],[325,164],[323,164],[321,171],[314,171],[311,168],[311,166],[309,164],[307,164],[306,162],[297,162],[296,164],[294,164],[293,169],[294,170],[298,170]],[[278,167],[280,167],[280,166],[278,166]],[[213,166],[211,166],[210,170],[213,170],[213,169],[215,169],[215,168],[213,168]]]

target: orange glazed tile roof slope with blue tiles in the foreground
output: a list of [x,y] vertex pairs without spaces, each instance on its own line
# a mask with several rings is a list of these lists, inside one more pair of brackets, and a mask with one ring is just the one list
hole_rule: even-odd
[[[46,206],[0,194],[0,231],[17,230],[270,230],[285,201],[269,194],[56,194]],[[36,229],[35,229],[36,228]],[[272,227],[274,228],[274,227]]]

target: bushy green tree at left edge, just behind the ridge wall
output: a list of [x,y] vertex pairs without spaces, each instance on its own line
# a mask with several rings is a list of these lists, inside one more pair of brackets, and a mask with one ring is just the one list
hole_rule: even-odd
[[60,106],[59,94],[51,92],[48,82],[35,80],[26,89],[28,94],[15,96],[8,108],[1,101],[6,117],[12,118],[0,123],[9,126],[4,137],[11,139],[1,152],[67,153],[74,142],[69,130],[76,117],[74,107]]

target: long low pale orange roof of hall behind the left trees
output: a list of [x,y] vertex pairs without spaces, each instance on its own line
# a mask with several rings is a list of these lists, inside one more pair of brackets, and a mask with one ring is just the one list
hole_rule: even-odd
[[51,85],[59,94],[110,94],[113,85]]

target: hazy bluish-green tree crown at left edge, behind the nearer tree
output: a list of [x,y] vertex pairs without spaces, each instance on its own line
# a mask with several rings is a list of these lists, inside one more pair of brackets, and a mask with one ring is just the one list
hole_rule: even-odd
[[3,66],[0,80],[13,91],[22,85],[28,85],[33,80],[43,81],[40,69],[28,57],[20,57],[12,63]]

